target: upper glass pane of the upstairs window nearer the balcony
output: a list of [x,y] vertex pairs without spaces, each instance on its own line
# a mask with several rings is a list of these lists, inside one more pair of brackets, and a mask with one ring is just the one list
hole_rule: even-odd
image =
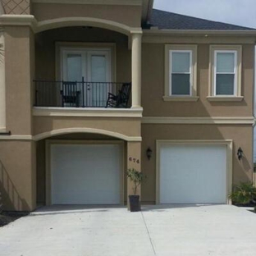
[[190,72],[190,53],[172,53],[172,73]]

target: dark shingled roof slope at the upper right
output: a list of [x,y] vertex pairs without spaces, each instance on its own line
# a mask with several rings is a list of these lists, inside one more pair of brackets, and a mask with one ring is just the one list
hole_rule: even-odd
[[152,10],[150,26],[157,26],[159,30],[255,30],[156,9]]

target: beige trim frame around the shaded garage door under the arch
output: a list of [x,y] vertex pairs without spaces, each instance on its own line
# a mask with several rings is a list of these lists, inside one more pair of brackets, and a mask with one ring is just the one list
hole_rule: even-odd
[[121,166],[120,166],[120,204],[124,205],[124,187],[125,187],[125,144],[121,140],[78,140],[78,139],[47,139],[45,141],[45,193],[46,193],[46,205],[52,205],[52,181],[51,181],[51,145],[52,144],[117,144],[121,150]]

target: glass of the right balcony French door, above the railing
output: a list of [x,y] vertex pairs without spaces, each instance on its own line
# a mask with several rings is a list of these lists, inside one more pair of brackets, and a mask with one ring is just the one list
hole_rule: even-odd
[[104,55],[91,56],[92,82],[106,82],[106,57]]

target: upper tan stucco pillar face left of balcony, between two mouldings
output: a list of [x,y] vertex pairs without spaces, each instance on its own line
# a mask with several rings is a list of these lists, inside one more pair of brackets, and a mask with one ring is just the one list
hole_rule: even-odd
[[15,135],[30,135],[34,34],[29,27],[7,26],[4,30],[7,130]]

